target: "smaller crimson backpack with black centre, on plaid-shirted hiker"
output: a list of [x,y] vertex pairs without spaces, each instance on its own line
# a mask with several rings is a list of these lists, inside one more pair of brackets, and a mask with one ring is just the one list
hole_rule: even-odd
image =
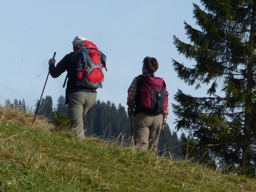
[[163,78],[145,75],[140,92],[139,106],[143,112],[163,114],[167,109],[169,94]]

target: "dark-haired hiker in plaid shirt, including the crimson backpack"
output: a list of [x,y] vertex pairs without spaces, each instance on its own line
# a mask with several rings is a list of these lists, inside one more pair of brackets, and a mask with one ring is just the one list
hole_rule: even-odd
[[[157,60],[145,57],[142,75],[135,77],[128,89],[128,115],[134,115],[134,145],[137,150],[151,149],[156,152],[160,131],[166,124],[169,109],[168,92],[163,79],[154,76],[157,69]],[[155,91],[157,89],[161,90]],[[152,101],[158,104],[147,107]]]

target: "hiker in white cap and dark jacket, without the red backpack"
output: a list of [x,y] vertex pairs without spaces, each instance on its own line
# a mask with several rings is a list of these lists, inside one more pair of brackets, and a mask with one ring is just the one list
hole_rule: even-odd
[[[75,51],[83,46],[83,42],[88,42],[85,37],[77,36],[73,40],[73,52],[70,52],[57,63],[55,66],[55,59],[49,59],[49,73],[53,78],[59,77],[62,73],[67,71],[67,87],[66,87],[66,103],[68,104],[68,117],[70,119],[70,131],[75,131],[77,138],[85,139],[84,122],[87,113],[91,110],[96,101],[97,88],[84,87],[77,85],[78,80],[78,63],[74,62]],[[96,46],[95,46],[96,47]],[[96,47],[97,48],[97,47]],[[98,49],[94,49],[98,52]],[[73,57],[72,57],[73,56]],[[79,56],[79,59],[81,56]],[[86,60],[86,59],[85,59]],[[99,60],[99,52],[98,52]],[[102,68],[101,68],[102,69]],[[100,69],[100,70],[101,70]],[[102,72],[102,70],[101,70]],[[82,72],[81,72],[82,73]],[[64,86],[63,86],[64,87]]]

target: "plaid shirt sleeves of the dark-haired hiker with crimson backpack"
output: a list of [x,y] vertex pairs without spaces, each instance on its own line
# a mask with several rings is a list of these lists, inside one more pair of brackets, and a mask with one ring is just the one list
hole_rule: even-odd
[[[127,92],[128,92],[128,97],[127,97],[126,104],[128,105],[128,115],[133,115],[134,107],[135,107],[134,101],[135,101],[136,94],[137,94],[137,79],[136,79],[136,77],[132,81],[132,84],[128,88]],[[169,114],[168,111],[169,111],[169,103],[167,105],[167,109],[164,110],[163,124],[166,124],[167,115]]]

